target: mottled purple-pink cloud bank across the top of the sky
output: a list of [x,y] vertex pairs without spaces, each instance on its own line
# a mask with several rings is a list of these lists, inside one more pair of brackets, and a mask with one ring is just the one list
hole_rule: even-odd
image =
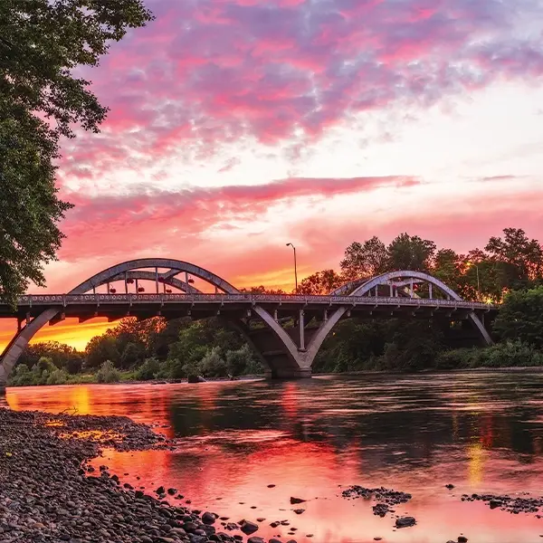
[[543,15],[529,0],[148,5],[156,21],[85,74],[111,112],[102,138],[66,146],[66,175],[101,176],[134,151],[145,162],[247,136],[311,140],[355,113],[427,107],[543,67],[538,39],[518,35],[522,17]]

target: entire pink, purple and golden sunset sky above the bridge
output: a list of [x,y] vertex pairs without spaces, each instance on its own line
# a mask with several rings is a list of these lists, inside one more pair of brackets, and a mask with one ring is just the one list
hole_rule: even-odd
[[374,234],[459,252],[507,226],[543,238],[543,1],[147,5],[156,20],[81,71],[111,111],[62,145],[76,206],[48,291],[149,256],[291,290],[287,242],[303,277]]

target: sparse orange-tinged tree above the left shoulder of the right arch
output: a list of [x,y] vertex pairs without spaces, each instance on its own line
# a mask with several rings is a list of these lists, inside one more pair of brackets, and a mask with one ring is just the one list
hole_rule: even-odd
[[345,282],[369,279],[384,273],[388,266],[385,243],[375,235],[364,243],[351,243],[339,266]]

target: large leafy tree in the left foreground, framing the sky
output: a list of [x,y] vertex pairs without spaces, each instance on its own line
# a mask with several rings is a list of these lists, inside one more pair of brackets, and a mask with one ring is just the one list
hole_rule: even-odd
[[73,127],[98,131],[107,114],[75,78],[111,40],[152,19],[141,0],[0,2],[0,298],[14,304],[62,242],[53,163]]

